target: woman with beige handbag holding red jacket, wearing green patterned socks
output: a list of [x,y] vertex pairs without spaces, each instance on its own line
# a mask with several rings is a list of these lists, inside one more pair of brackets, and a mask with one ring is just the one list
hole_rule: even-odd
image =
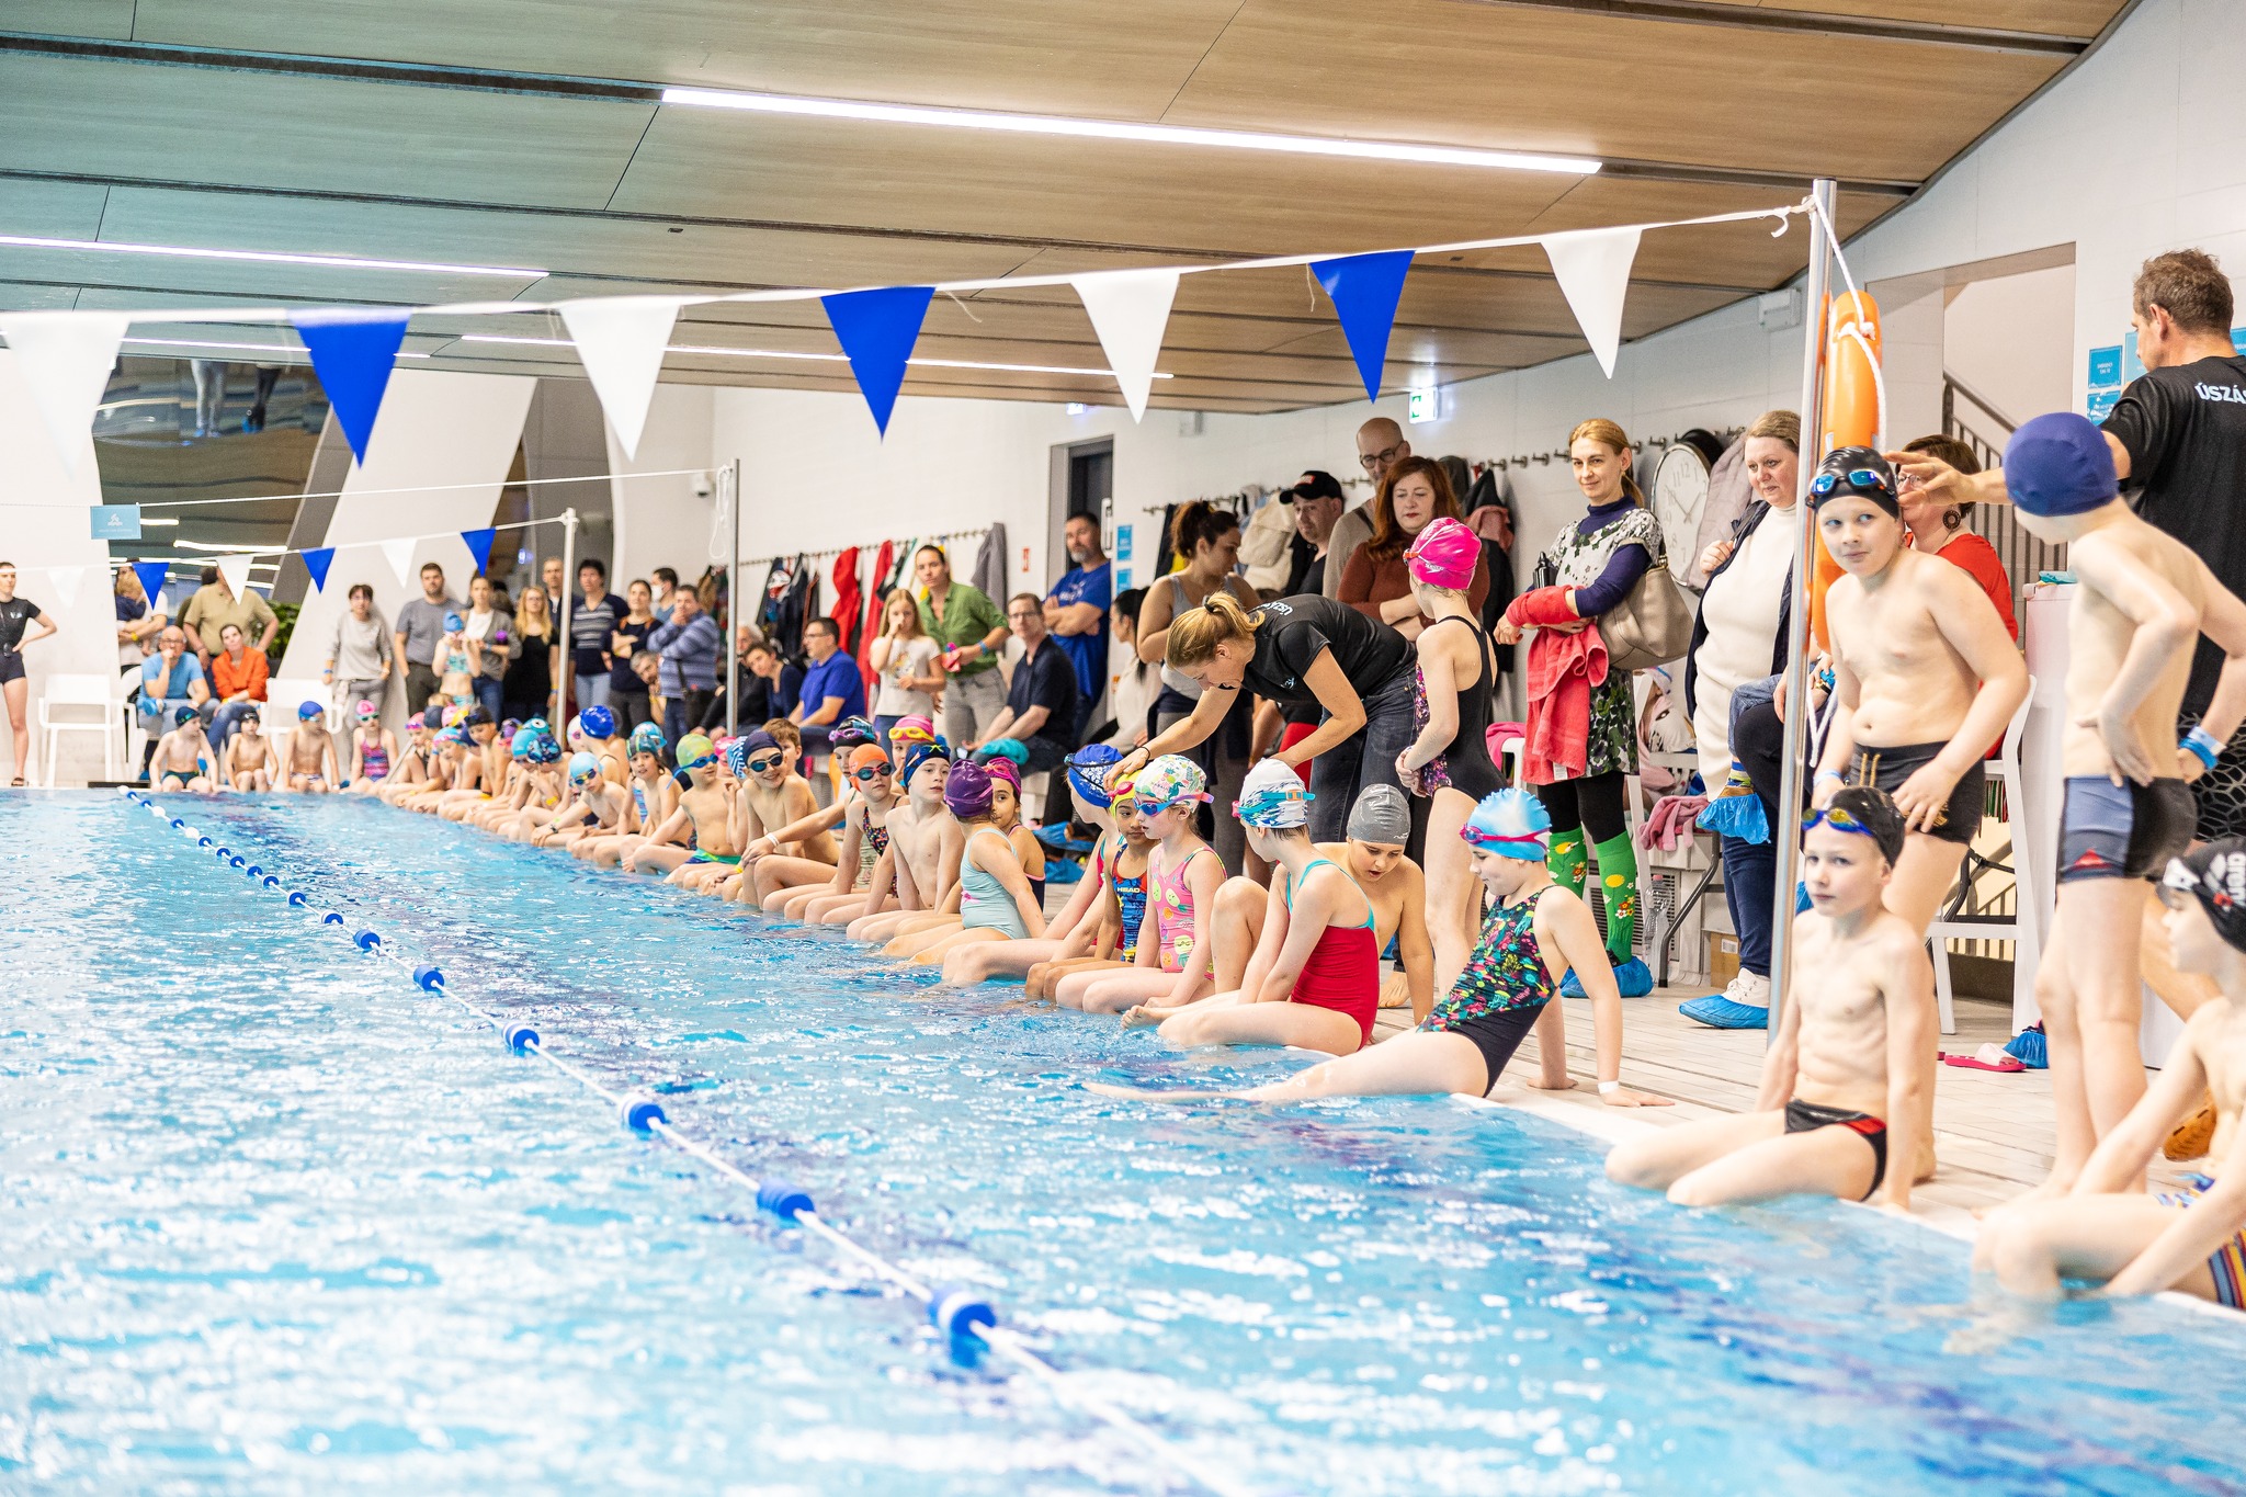
[[[1523,628],[1539,631],[1527,671],[1527,781],[1552,812],[1552,880],[1581,893],[1590,862],[1586,842],[1597,857],[1606,956],[1615,985],[1628,999],[1653,992],[1653,974],[1633,954],[1637,853],[1624,815],[1624,777],[1637,772],[1631,673],[1660,664],[1660,658],[1640,655],[1667,646],[1664,635],[1673,633],[1669,615],[1676,613],[1671,597],[1642,597],[1642,590],[1662,584],[1673,590],[1676,581],[1667,577],[1662,525],[1631,478],[1633,458],[1631,438],[1615,422],[1588,420],[1568,433],[1568,465],[1583,492],[1583,518],[1561,530],[1536,559],[1536,579],[1547,586],[1516,597],[1496,628],[1498,644],[1514,644]],[[1608,619],[1619,624],[1613,646],[1606,642]],[[1644,628],[1649,619],[1658,619],[1651,635]],[[1590,624],[1599,626],[1597,646],[1581,640]],[[1628,635],[1628,653],[1622,635]],[[1676,640],[1676,653],[1684,653],[1684,640]],[[1574,974],[1561,992],[1581,997]]]

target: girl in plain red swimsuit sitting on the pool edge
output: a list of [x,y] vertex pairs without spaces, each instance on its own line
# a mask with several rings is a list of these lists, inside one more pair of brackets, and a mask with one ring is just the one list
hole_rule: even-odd
[[1197,1003],[1143,1003],[1125,1028],[1161,1023],[1175,1046],[1276,1044],[1352,1055],[1372,1041],[1381,952],[1372,900],[1309,839],[1309,792],[1278,759],[1249,770],[1233,808],[1249,846],[1271,864],[1262,940],[1235,992]]

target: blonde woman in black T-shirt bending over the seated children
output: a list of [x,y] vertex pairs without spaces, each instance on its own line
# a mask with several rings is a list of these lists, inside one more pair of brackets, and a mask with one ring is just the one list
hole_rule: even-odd
[[1363,786],[1397,783],[1397,754],[1417,734],[1413,653],[1386,624],[1314,593],[1260,608],[1242,608],[1231,593],[1211,593],[1163,631],[1163,658],[1202,687],[1202,700],[1193,716],[1125,754],[1116,772],[1190,750],[1217,732],[1242,691],[1253,691],[1273,707],[1325,714],[1314,734],[1273,754],[1287,768],[1312,765],[1314,839],[1345,837]]

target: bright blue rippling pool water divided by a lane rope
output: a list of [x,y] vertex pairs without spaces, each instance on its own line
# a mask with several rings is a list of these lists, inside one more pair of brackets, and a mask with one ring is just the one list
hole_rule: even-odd
[[[1258,1493],[2226,1493],[2242,1326],[368,803],[173,801]],[[0,801],[0,1488],[1193,1490],[121,797]]]

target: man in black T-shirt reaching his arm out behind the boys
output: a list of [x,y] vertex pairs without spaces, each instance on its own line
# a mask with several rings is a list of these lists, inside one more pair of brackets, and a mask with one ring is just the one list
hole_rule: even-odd
[[[2145,260],[2129,316],[2145,375],[2120,393],[2102,431],[2136,512],[2246,595],[2246,359],[2230,343],[2230,281],[2212,256],[2174,249]],[[1941,458],[1887,456],[1927,489],[2008,500],[2003,469],[1965,478]],[[2201,640],[2179,738],[2206,714],[2221,664],[2224,653]],[[2246,732],[2230,738],[2192,795],[2201,842],[2246,835]]]

